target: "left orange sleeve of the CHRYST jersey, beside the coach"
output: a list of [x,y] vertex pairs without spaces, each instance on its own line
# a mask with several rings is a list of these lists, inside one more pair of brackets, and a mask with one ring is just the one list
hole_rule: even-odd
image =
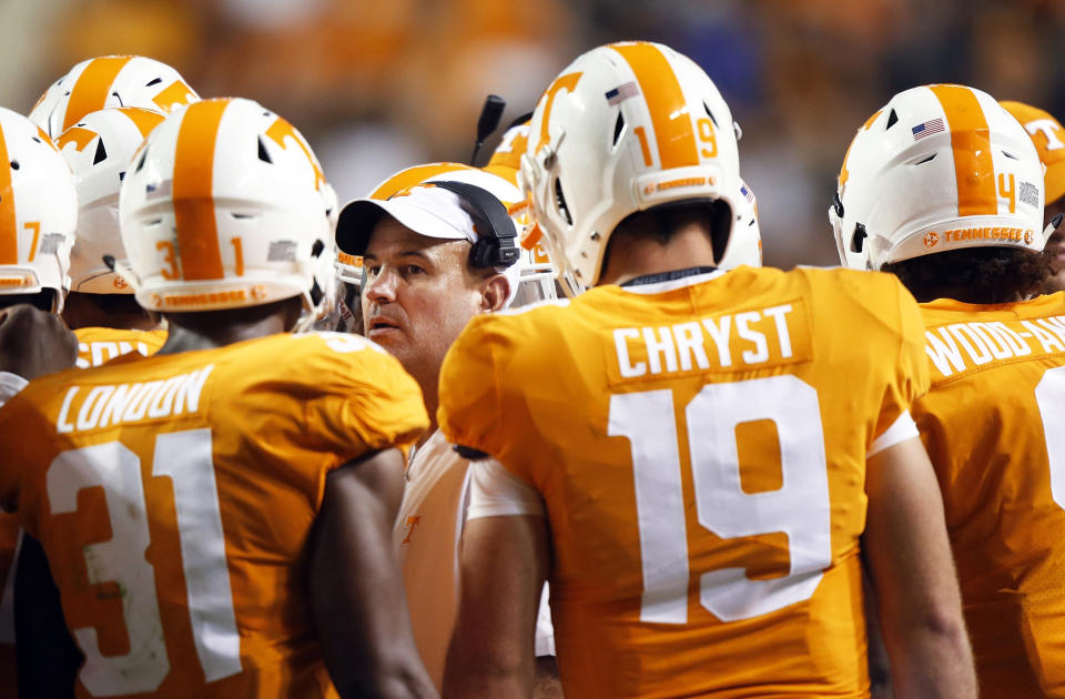
[[497,356],[505,340],[493,328],[493,320],[471,320],[444,357],[436,416],[449,443],[498,457],[503,440]]

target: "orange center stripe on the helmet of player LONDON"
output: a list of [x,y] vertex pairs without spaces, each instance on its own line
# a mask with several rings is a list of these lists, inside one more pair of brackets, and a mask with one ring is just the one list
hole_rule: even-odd
[[174,224],[182,278],[225,276],[214,217],[214,150],[229,102],[196,102],[185,112],[174,151]]

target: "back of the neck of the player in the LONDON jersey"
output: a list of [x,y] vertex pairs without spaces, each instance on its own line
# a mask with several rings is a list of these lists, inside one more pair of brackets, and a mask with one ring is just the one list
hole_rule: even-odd
[[[293,301],[296,303],[291,303]],[[298,317],[298,297],[246,308],[169,313],[170,334],[159,354],[213,350],[245,340],[286,333]]]

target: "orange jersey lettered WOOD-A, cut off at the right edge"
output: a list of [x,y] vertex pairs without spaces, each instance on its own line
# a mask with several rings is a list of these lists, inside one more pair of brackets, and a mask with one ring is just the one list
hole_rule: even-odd
[[1065,697],[1065,293],[922,304],[935,465],[981,693]]

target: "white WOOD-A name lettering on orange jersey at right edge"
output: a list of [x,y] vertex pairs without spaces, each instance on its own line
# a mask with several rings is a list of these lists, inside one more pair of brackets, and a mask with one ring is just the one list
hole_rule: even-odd
[[924,334],[925,352],[943,376],[990,362],[1065,352],[1065,316],[1032,321],[952,323]]

